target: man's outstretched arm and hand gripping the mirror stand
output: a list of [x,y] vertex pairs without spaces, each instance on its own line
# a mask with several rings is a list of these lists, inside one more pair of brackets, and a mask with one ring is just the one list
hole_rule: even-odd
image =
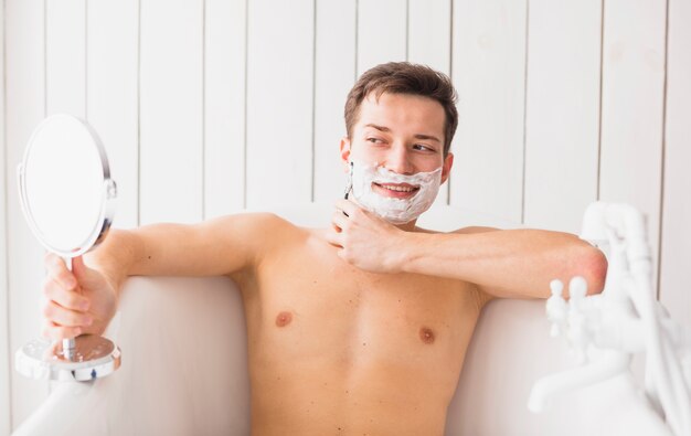
[[113,230],[73,270],[46,256],[44,336],[103,333],[115,315],[123,284],[134,275],[214,276],[253,268],[275,242],[283,220],[240,214],[200,224],[153,224]]

